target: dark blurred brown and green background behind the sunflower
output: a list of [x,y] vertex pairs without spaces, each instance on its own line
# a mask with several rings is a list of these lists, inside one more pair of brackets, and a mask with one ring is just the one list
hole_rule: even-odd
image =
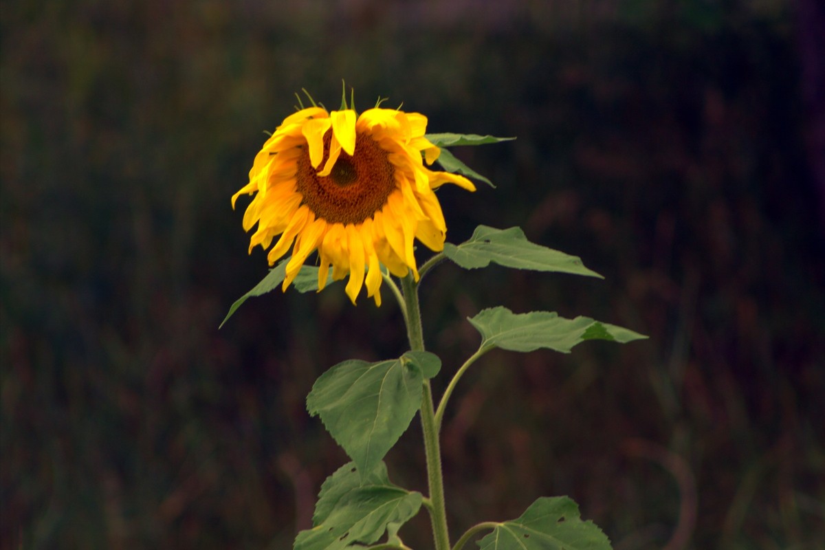
[[[581,256],[589,280],[442,266],[454,372],[498,304],[641,331],[493,353],[443,433],[450,527],[569,495],[617,550],[825,548],[825,119],[816,0],[2,5],[0,547],[291,548],[347,458],[324,369],[405,350],[341,285],[234,299],[265,253],[229,197],[306,87],[378,96],[496,184],[439,195]],[[445,378],[445,377],[442,377]],[[436,393],[444,388],[436,380]],[[388,455],[425,491],[417,421]],[[429,548],[422,514],[401,532]]]

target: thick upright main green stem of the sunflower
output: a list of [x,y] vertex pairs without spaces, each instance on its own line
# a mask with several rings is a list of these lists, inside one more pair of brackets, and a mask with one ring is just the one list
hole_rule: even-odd
[[[404,303],[407,308],[407,334],[410,349],[424,350],[424,335],[421,326],[421,308],[418,305],[418,285],[409,274],[401,280]],[[424,431],[424,453],[427,456],[427,479],[430,487],[430,512],[432,535],[436,550],[450,550],[450,533],[447,529],[447,510],[444,503],[444,480],[441,473],[441,448],[438,440],[438,425],[432,402],[430,381],[422,387],[421,425]]]

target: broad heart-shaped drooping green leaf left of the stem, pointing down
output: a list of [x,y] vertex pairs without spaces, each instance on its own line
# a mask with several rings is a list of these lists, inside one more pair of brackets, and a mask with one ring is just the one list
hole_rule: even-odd
[[344,361],[318,378],[307,410],[321,417],[359,471],[370,472],[407,430],[421,407],[424,379],[440,368],[427,351],[380,363]]

